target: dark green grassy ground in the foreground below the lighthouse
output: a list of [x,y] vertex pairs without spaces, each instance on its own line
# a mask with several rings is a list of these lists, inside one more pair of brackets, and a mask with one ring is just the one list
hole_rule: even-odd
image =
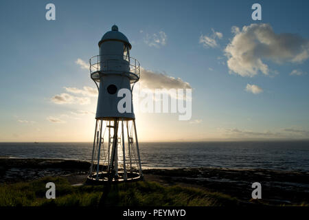
[[[47,182],[56,184],[56,199],[46,199]],[[45,177],[16,184],[0,184],[0,206],[98,206],[104,186],[71,186],[62,177]],[[238,200],[218,192],[181,186],[161,186],[151,181],[111,187],[109,206],[237,206]]]

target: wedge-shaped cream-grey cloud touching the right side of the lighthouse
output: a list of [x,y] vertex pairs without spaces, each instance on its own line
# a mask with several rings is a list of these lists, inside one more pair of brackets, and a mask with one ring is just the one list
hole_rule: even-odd
[[141,87],[148,89],[192,89],[189,83],[181,78],[174,78],[162,73],[141,68]]

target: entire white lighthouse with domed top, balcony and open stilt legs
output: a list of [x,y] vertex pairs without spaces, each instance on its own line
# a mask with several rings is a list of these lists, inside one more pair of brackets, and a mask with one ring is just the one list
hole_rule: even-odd
[[91,79],[99,90],[87,179],[91,183],[143,178],[132,99],[130,111],[118,110],[123,98],[123,94],[118,97],[118,91],[127,89],[132,97],[133,86],[139,80],[139,62],[130,57],[131,47],[126,36],[113,25],[99,42],[100,55],[90,58]]

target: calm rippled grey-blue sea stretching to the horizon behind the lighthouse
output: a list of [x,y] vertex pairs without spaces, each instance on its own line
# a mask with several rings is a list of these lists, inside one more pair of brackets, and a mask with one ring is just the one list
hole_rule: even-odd
[[[309,171],[309,141],[139,143],[143,168],[225,167]],[[92,143],[0,143],[0,156],[91,158]]]

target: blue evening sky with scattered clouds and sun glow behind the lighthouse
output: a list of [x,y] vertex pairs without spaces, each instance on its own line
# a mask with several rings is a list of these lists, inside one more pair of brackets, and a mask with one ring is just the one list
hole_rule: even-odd
[[[47,3],[56,21],[47,21]],[[262,20],[253,20],[253,3]],[[141,87],[192,89],[192,118],[142,113],[141,142],[309,137],[309,1],[1,1],[0,142],[91,142],[89,58],[116,24]],[[135,98],[135,95],[133,95]]]

